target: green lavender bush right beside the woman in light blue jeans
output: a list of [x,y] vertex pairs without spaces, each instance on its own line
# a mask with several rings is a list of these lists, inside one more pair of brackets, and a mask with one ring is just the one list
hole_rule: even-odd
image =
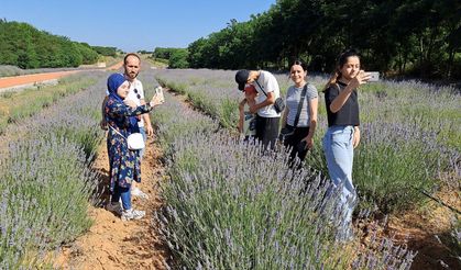
[[437,188],[438,173],[457,166],[449,164],[451,153],[443,153],[437,134],[418,126],[377,121],[362,128],[353,179],[362,198],[372,199],[385,213],[422,201],[422,190]]

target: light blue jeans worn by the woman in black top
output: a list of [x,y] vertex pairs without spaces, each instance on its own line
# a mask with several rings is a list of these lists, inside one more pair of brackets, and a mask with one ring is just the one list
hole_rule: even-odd
[[[333,183],[332,188],[340,188],[341,207],[343,207],[343,225],[352,222],[352,212],[355,206],[356,192],[352,183],[352,164],[354,127],[330,126],[323,137],[323,150],[327,158],[328,172]],[[344,227],[345,229],[347,227]]]

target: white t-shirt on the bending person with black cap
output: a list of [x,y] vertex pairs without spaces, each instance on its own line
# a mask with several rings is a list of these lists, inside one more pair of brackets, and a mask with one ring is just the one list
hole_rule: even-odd
[[[264,88],[264,92],[266,93],[274,92],[275,99],[281,97],[278,82],[271,72],[261,70],[260,77],[257,78],[257,82],[261,85],[261,87]],[[255,98],[256,104],[263,103],[267,99],[267,97],[263,93],[263,91],[261,91],[261,88],[256,83],[256,81],[254,81],[252,85],[257,91],[257,95]],[[257,110],[257,115],[262,117],[279,117],[281,116],[281,114],[275,111],[273,104]]]

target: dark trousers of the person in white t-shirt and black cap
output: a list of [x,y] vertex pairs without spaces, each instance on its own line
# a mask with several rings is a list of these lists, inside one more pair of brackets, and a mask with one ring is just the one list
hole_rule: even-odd
[[262,117],[256,116],[256,139],[259,139],[264,148],[274,149],[278,138],[278,123],[281,117]]

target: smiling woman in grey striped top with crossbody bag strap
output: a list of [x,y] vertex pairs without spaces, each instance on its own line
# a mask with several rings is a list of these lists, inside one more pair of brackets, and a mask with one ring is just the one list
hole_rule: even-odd
[[[282,117],[282,126],[295,130],[292,136],[284,140],[285,146],[292,147],[292,159],[296,156],[303,161],[308,149],[314,146],[314,134],[317,126],[318,93],[315,86],[307,83],[307,66],[300,60],[293,63],[289,77],[294,85],[286,93],[286,109]],[[305,98],[301,93],[306,87]],[[299,102],[301,101],[298,119]],[[297,119],[297,120],[296,120]],[[297,122],[297,123],[296,123]]]

